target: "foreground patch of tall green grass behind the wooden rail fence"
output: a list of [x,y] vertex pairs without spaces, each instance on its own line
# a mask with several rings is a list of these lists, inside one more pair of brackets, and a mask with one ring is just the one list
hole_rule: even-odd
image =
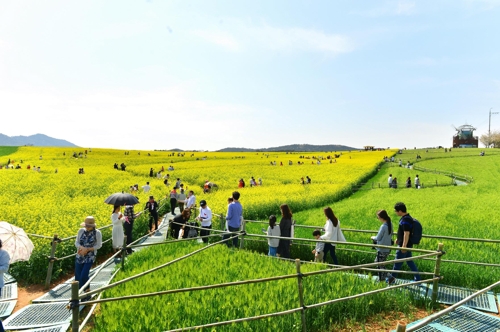
[[[135,253],[116,280],[143,272],[201,248],[193,243],[170,243]],[[302,265],[301,271],[324,269],[324,265]],[[249,251],[217,245],[181,262],[155,271],[105,292],[105,297],[158,292],[162,290],[212,285],[295,274],[294,263]],[[385,285],[345,273],[328,273],[304,278],[305,304],[363,293]],[[411,299],[402,292],[383,292],[357,300],[306,311],[308,331],[325,331],[347,320],[364,322],[383,311],[409,313]],[[297,280],[284,279],[229,288],[178,293],[159,297],[105,303],[96,316],[95,331],[167,330],[284,311],[300,307]],[[133,313],[133,314],[132,314]],[[206,329],[212,331],[212,329]],[[217,331],[300,331],[300,314],[273,317],[230,326]]]

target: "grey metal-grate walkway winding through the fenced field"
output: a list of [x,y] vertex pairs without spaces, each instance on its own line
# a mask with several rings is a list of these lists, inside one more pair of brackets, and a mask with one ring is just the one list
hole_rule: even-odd
[[[168,229],[169,219],[172,215],[165,215],[159,225],[159,231],[153,236],[147,237],[141,244],[158,243],[165,241]],[[140,250],[136,248],[135,250]],[[91,289],[97,289],[107,285],[113,279],[117,267],[121,260],[119,258],[108,261],[91,271],[91,276],[97,271],[96,277],[91,282]],[[118,266],[117,266],[118,265]],[[366,278],[366,275],[360,275]],[[9,316],[13,311],[17,299],[17,283],[15,280],[6,275],[4,277],[6,285],[2,290],[0,297],[0,317]],[[4,320],[3,324],[6,330],[23,330],[24,332],[63,332],[67,331],[71,322],[71,311],[67,309],[68,301],[71,296],[71,282],[73,278],[54,287],[49,292],[32,301],[32,304],[17,311],[12,316]],[[409,280],[397,279],[396,284],[409,283]],[[404,291],[412,293],[414,296],[426,297],[432,293],[432,285],[427,287],[419,287],[418,285],[408,285]],[[394,290],[397,291],[397,290]],[[439,285],[438,302],[443,304],[454,304],[475,291],[465,288]],[[466,303],[465,306],[459,307],[450,314],[439,318],[430,323],[424,328],[417,331],[420,332],[496,332],[500,329],[500,318],[485,314],[481,311],[498,314],[497,302],[500,303],[500,295],[495,297],[493,292],[487,292],[474,300]],[[82,310],[84,306],[80,306]],[[479,311],[481,310],[481,311]],[[416,324],[418,322],[412,323]],[[412,324],[408,325],[410,327]],[[131,327],[132,328],[132,327]],[[161,329],[161,327],[158,327]],[[26,330],[28,329],[28,330]]]

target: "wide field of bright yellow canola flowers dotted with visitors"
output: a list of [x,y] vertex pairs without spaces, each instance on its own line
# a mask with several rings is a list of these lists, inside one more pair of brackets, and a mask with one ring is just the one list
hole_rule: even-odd
[[[73,153],[82,155],[74,158]],[[87,215],[95,216],[99,225],[110,223],[111,206],[104,204],[110,194],[128,192],[131,185],[141,187],[150,181],[149,194],[142,190],[136,194],[141,202],[136,208],[139,211],[150,194],[157,200],[164,198],[176,178],[180,178],[187,189],[194,190],[197,202],[206,199],[214,213],[225,213],[227,197],[239,190],[245,218],[264,219],[269,214],[279,213],[282,203],[288,203],[297,212],[345,197],[350,184],[375,172],[383,156],[392,153],[343,152],[336,162],[330,163],[326,157],[333,157],[334,152],[179,154],[129,151],[126,154],[123,150],[110,149],[21,147],[0,160],[4,166],[10,159],[11,165],[22,167],[0,169],[0,220],[19,225],[30,233],[71,236],[76,234]],[[314,159],[318,157],[323,158],[320,165]],[[277,166],[272,166],[272,161],[276,161]],[[298,165],[299,161],[303,164]],[[127,165],[125,172],[113,168],[114,163],[120,165],[122,162]],[[40,172],[27,170],[27,165],[40,167]],[[167,171],[170,165],[174,171]],[[163,179],[149,177],[150,168],[156,175],[162,167],[165,169],[163,174],[170,174],[169,188],[163,184]],[[78,174],[79,168],[84,168],[85,174]],[[249,179],[252,176],[256,180],[262,178],[263,185],[251,188]],[[300,178],[305,176],[312,179],[311,185],[300,184]],[[245,188],[238,189],[240,178],[245,180]],[[216,183],[218,189],[203,194],[205,180]]]

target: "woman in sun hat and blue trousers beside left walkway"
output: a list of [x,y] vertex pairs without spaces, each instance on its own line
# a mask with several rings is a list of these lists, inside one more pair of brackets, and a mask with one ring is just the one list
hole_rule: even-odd
[[[97,250],[102,247],[101,231],[96,229],[95,219],[92,216],[85,218],[85,222],[80,225],[78,234],[76,235],[75,246],[78,249],[76,252],[75,262],[75,280],[80,283],[80,288],[89,280],[89,271],[92,264],[95,262]],[[90,290],[90,285],[85,288],[85,291]]]

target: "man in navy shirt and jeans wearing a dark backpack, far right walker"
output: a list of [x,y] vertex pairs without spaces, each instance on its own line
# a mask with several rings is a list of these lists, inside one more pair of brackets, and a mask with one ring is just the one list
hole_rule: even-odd
[[[396,250],[396,259],[410,258],[412,257],[411,251],[405,250],[406,248],[413,248],[413,243],[411,242],[411,232],[413,229],[413,218],[410,216],[408,212],[406,212],[406,205],[404,203],[398,202],[394,205],[394,212],[401,217],[399,219],[398,226],[398,237],[396,243],[398,245],[398,250]],[[407,261],[408,267],[413,272],[418,272],[417,265],[414,261]],[[395,263],[393,270],[401,270],[403,266],[403,262]],[[415,281],[420,280],[420,275],[415,274],[413,279]],[[396,274],[389,274],[386,279],[386,282],[391,285],[396,281]]]

